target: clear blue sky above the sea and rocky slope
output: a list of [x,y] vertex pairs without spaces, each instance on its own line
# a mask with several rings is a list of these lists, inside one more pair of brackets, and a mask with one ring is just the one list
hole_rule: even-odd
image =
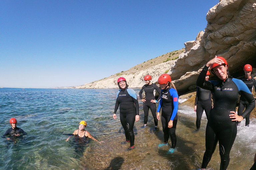
[[0,87],[89,83],[184,47],[219,0],[0,1]]

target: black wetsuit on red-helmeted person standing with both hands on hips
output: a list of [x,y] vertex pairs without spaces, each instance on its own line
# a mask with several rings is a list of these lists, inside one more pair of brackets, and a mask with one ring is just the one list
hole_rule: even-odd
[[156,100],[155,95],[156,95],[156,91],[157,91],[157,93],[159,94],[157,102],[159,102],[159,100],[161,99],[161,95],[160,95],[161,91],[160,91],[159,87],[157,87],[157,85],[155,85],[154,83],[152,83],[150,85],[145,84],[140,90],[140,93],[139,93],[140,99],[142,99],[143,91],[145,91],[145,99],[146,99],[146,101],[143,102],[144,124],[147,124],[147,122],[148,122],[148,111],[150,109],[151,113],[153,115],[153,118],[154,118],[155,126],[157,126],[158,120],[156,118],[156,104],[151,103],[151,100]]

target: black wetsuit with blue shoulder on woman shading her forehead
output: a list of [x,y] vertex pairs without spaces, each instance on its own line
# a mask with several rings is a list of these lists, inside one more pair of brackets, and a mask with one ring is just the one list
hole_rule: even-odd
[[205,133],[205,153],[202,167],[206,168],[219,141],[221,157],[220,170],[226,170],[229,164],[229,153],[236,138],[236,122],[229,118],[230,111],[236,111],[239,95],[249,102],[241,114],[245,118],[255,107],[255,99],[247,86],[238,79],[227,78],[222,81],[204,81],[208,67],[205,66],[199,74],[196,85],[211,90],[214,94],[214,107],[210,112]]

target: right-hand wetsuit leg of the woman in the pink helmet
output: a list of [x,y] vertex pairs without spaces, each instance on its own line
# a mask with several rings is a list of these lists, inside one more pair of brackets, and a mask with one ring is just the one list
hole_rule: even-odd
[[135,122],[135,116],[136,116],[136,113],[129,113],[129,114],[126,114],[125,116],[126,128],[130,138],[130,146],[134,145],[133,126]]

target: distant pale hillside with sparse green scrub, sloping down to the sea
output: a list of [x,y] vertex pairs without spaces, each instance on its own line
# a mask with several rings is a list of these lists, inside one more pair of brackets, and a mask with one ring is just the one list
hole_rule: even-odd
[[91,83],[86,83],[82,86],[74,86],[68,88],[118,88],[117,79],[119,77],[125,77],[129,87],[142,87],[144,82],[144,76],[150,74],[152,81],[157,82],[158,77],[163,73],[169,73],[170,67],[175,64],[181,53],[185,52],[185,49],[175,50],[158,57],[144,61],[129,70],[121,71],[110,77],[97,80]]

